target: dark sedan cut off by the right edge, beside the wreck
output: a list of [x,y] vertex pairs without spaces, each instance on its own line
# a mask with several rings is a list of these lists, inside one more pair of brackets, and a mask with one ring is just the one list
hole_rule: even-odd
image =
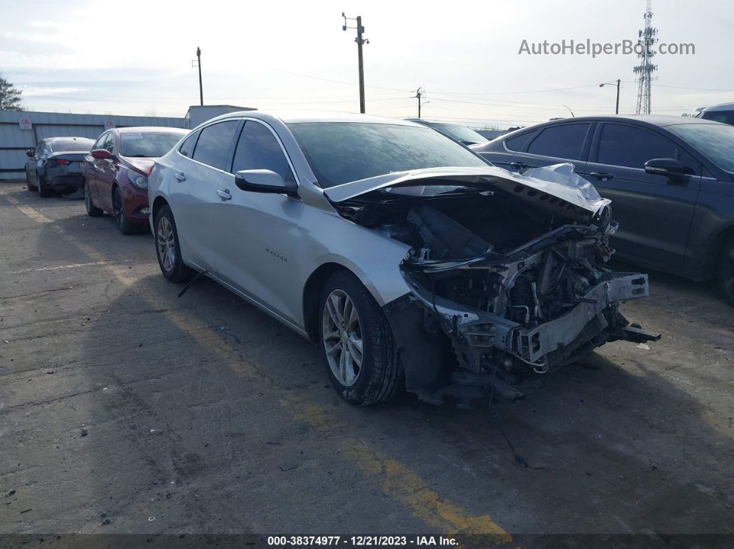
[[672,116],[571,118],[471,148],[514,172],[573,163],[612,200],[620,259],[694,280],[716,277],[734,306],[734,126]]

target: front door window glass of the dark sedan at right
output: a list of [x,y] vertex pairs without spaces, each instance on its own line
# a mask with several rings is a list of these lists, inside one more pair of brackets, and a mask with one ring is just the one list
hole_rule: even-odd
[[611,166],[644,168],[652,158],[675,158],[675,143],[657,133],[621,124],[605,124],[597,162]]

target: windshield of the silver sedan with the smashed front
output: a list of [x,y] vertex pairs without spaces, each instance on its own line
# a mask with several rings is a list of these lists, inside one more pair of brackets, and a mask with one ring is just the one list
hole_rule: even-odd
[[288,124],[322,188],[391,172],[487,162],[429,128],[362,122]]

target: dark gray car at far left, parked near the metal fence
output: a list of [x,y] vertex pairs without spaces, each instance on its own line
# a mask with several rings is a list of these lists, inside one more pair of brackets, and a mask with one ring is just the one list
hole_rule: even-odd
[[92,149],[94,139],[48,137],[35,149],[26,151],[26,183],[29,191],[51,196],[54,191],[73,193],[81,188],[81,163]]

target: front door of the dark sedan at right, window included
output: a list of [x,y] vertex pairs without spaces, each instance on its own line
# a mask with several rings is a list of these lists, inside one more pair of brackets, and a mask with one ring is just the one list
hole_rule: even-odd
[[[676,158],[688,163],[684,182],[648,174],[644,163]],[[684,164],[685,165],[685,164]],[[700,164],[663,133],[622,122],[603,122],[592,139],[586,179],[611,199],[619,230],[612,244],[621,256],[661,267],[680,267],[700,189]]]

